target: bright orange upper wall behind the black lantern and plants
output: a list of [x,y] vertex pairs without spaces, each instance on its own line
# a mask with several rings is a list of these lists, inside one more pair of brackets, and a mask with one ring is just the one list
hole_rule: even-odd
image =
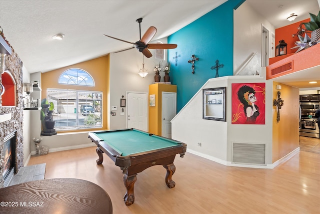
[[[286,54],[290,54],[290,53],[295,53],[296,52],[296,48],[295,49],[290,49],[293,48],[295,46],[295,42],[299,41],[298,37],[295,36],[294,38],[292,37],[292,34],[296,34],[297,27],[299,27],[300,23],[305,23],[305,22],[309,22],[310,19],[306,19],[306,20],[302,20],[301,22],[297,22],[297,23],[293,23],[291,25],[287,25],[284,26],[282,28],[278,28],[275,29],[274,33],[275,33],[275,46],[277,44],[279,44],[280,40],[284,40],[284,42],[287,44],[286,47]],[[302,25],[302,28],[304,28],[304,25]],[[310,34],[308,34],[309,37],[311,37]],[[304,37],[304,34],[303,34]],[[275,50],[274,50],[275,51]],[[275,54],[274,54],[275,56]]]

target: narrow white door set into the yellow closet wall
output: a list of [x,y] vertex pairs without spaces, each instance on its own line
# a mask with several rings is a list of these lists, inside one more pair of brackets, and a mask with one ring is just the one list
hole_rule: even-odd
[[176,115],[176,93],[162,92],[161,136],[171,138],[171,120]]

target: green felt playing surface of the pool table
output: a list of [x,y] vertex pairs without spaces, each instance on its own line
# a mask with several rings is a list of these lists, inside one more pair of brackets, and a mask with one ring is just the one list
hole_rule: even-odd
[[107,143],[121,156],[168,148],[181,144],[168,138],[152,135],[137,129],[91,132]]

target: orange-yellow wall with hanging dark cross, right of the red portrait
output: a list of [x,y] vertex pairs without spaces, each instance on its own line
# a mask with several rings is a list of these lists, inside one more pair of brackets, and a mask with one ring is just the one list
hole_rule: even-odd
[[[277,90],[276,85],[281,89]],[[283,106],[279,122],[276,121],[277,108],[272,108],[272,163],[299,147],[299,89],[273,82],[272,101],[277,100],[277,91],[281,93]]]

